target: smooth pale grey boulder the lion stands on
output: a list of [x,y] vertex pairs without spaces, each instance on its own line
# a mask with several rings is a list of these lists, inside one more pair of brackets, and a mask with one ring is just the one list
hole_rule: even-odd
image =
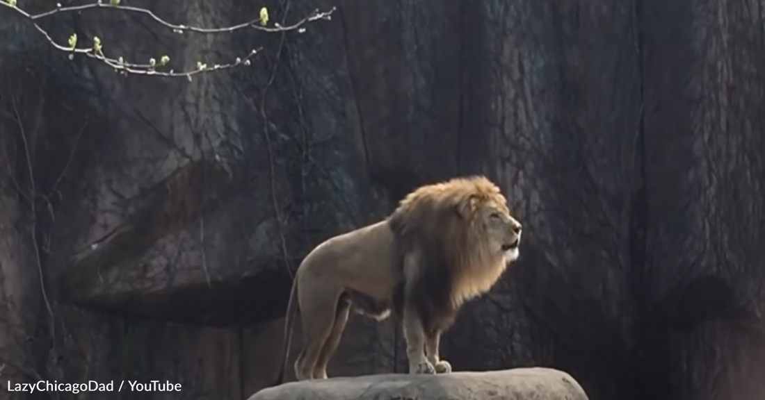
[[568,373],[516,368],[425,376],[385,374],[285,383],[248,400],[588,400]]

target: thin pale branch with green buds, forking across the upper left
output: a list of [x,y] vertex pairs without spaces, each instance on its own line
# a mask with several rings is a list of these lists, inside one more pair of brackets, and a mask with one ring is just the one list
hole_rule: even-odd
[[[137,63],[128,63],[125,62],[125,60],[122,59],[122,57],[119,58],[112,58],[104,55],[103,48],[100,45],[100,41],[97,37],[93,38],[93,46],[92,47],[80,47],[77,48],[77,36],[73,36],[74,44],[70,44],[68,46],[63,46],[61,44],[57,44],[56,41],[50,37],[50,34],[48,34],[47,31],[43,27],[41,27],[39,24],[37,24],[37,20],[41,20],[43,18],[50,17],[52,15],[67,13],[67,12],[74,12],[74,11],[86,11],[86,10],[92,10],[96,8],[106,8],[106,9],[113,9],[113,10],[119,10],[119,11],[125,11],[125,12],[133,12],[143,15],[148,15],[153,20],[157,21],[159,24],[161,24],[164,27],[168,27],[169,29],[173,30],[177,33],[183,33],[184,31],[190,31],[190,32],[196,32],[200,34],[220,34],[220,33],[231,33],[234,31],[239,31],[244,28],[252,28],[256,31],[264,31],[264,32],[287,32],[287,31],[295,31],[298,32],[304,32],[305,28],[303,27],[304,24],[307,24],[308,22],[318,21],[318,20],[327,20],[329,21],[331,19],[332,13],[335,11],[335,8],[331,8],[330,11],[319,11],[318,9],[314,10],[311,15],[308,15],[307,17],[301,19],[295,24],[282,26],[282,24],[274,24],[273,27],[266,27],[259,25],[261,23],[260,18],[252,19],[250,21],[243,22],[241,24],[235,24],[229,27],[194,27],[194,26],[188,26],[184,24],[171,24],[168,21],[165,21],[162,18],[159,18],[157,15],[155,15],[153,12],[146,8],[138,8],[138,7],[131,7],[127,5],[112,5],[112,4],[106,4],[97,2],[93,4],[87,4],[87,5],[77,5],[77,6],[71,6],[71,7],[61,7],[60,5],[57,6],[57,8],[54,8],[53,10],[43,12],[41,14],[31,15],[27,11],[24,11],[21,8],[18,8],[18,5],[9,3],[7,0],[0,0],[0,5],[5,6],[5,8],[8,8],[12,11],[15,11],[18,15],[21,15],[24,19],[27,19],[28,21],[31,21],[32,26],[34,26],[37,31],[39,31],[43,37],[50,43],[55,49],[70,53],[70,59],[73,57],[74,54],[83,54],[85,56],[89,56],[90,58],[93,58],[95,60],[99,60],[103,63],[106,63],[106,65],[111,66],[112,68],[118,70],[122,73],[132,73],[136,75],[152,75],[152,76],[169,76],[169,77],[178,77],[178,76],[184,76],[187,79],[191,79],[191,76],[204,73],[204,72],[212,72],[220,69],[229,69],[233,68],[234,66],[240,66],[249,65],[249,59],[252,58],[252,56],[255,56],[256,53],[259,53],[261,50],[255,49],[250,51],[249,54],[243,57],[236,57],[236,60],[232,63],[223,63],[223,64],[215,64],[211,67],[208,67],[204,63],[197,63],[196,69],[190,69],[187,71],[181,71],[181,72],[175,72],[173,69],[170,69],[169,71],[158,71],[158,67],[166,66],[167,63],[169,63],[169,57],[162,56],[160,59],[160,63],[157,63],[156,60],[152,59],[152,63],[148,64],[137,64]],[[167,58],[165,58],[167,57]],[[163,60],[164,59],[164,60]]]

